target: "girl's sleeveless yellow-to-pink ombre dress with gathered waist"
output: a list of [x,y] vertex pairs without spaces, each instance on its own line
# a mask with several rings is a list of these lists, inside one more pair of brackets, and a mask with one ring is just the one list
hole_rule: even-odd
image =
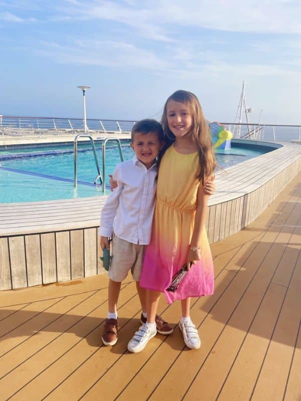
[[164,292],[168,303],[211,295],[214,290],[213,260],[204,228],[201,260],[191,267],[176,292],[166,291],[173,276],[187,262],[199,185],[198,165],[197,152],[182,154],[171,145],[159,168],[152,237],[145,250],[140,285]]

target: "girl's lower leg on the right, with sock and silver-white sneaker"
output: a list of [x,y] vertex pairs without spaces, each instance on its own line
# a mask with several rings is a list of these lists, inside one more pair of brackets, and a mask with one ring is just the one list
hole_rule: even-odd
[[182,317],[179,327],[183,333],[184,342],[188,348],[197,349],[201,346],[201,340],[196,326],[190,319],[190,303],[191,298],[182,299],[181,301]]

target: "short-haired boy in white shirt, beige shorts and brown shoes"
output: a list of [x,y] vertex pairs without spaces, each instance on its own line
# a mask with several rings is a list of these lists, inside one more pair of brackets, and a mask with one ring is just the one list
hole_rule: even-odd
[[[101,211],[99,235],[101,249],[109,249],[112,238],[112,260],[108,271],[108,315],[102,342],[114,345],[118,339],[117,301],[122,280],[131,271],[141,303],[141,323],[146,322],[146,290],[139,280],[144,245],[149,244],[152,230],[158,167],[156,157],[164,146],[164,133],[156,120],[145,119],[131,131],[132,160],[117,164],[113,179],[118,186],[111,192]],[[171,334],[173,327],[156,316],[157,331]]]

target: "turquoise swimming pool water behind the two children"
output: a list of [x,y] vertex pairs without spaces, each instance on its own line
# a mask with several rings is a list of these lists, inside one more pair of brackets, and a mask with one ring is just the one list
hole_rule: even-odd
[[[125,160],[132,158],[130,140],[121,140]],[[95,141],[99,164],[102,164],[102,141]],[[217,162],[227,168],[274,148],[233,141],[227,151],[218,150]],[[120,161],[117,147],[107,146],[106,173]],[[35,202],[102,195],[94,185],[97,169],[90,143],[78,144],[78,185],[73,186],[73,143],[11,145],[0,147],[0,203]],[[107,182],[106,177],[106,183]]]

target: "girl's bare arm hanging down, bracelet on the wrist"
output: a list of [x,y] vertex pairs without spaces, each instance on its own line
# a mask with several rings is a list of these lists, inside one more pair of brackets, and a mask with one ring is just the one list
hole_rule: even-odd
[[202,232],[206,223],[208,199],[209,195],[206,194],[205,189],[200,184],[197,193],[197,210],[195,214],[194,229],[187,256],[188,270],[190,268],[190,265],[195,264],[196,261],[200,260],[202,256],[200,243]]

